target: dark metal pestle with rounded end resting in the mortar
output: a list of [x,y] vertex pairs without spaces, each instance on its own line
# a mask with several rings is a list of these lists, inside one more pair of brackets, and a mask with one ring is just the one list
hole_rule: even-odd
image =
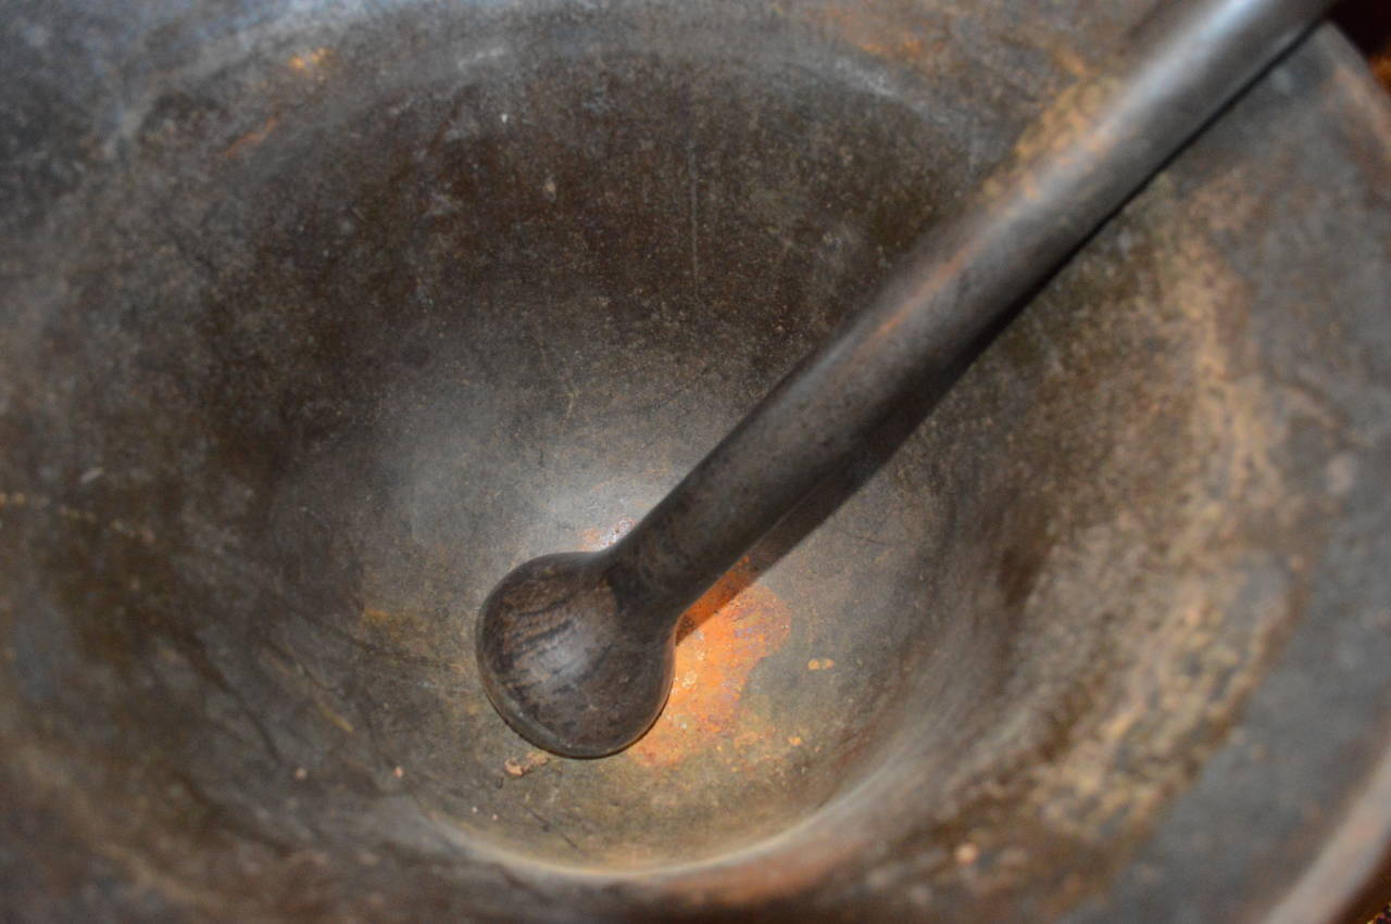
[[670,691],[684,610],[1330,6],[1159,3],[622,541],[502,578],[483,604],[477,656],[508,724],[570,757],[637,741]]

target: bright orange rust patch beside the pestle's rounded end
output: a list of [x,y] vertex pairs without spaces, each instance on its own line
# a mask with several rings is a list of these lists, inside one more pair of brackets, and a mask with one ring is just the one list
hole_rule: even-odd
[[787,641],[791,611],[755,577],[741,561],[682,617],[670,699],[630,759],[666,767],[716,745],[757,743],[734,734],[739,702],[754,666]]

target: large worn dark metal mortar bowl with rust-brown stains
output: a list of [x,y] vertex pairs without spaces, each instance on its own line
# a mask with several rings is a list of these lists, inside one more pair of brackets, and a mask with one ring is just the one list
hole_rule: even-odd
[[1148,6],[4,4],[6,913],[1331,914],[1391,118],[1327,32],[697,606],[647,739],[533,754],[474,668]]

